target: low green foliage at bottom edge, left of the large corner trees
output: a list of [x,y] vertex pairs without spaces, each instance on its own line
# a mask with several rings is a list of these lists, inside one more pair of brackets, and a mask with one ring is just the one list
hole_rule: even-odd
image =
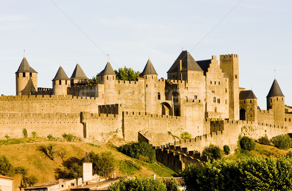
[[121,178],[108,191],[167,191],[163,180],[153,178]]

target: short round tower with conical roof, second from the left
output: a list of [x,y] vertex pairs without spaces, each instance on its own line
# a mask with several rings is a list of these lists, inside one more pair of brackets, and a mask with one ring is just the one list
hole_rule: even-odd
[[70,87],[70,79],[60,66],[53,81],[53,95],[67,95],[67,87]]

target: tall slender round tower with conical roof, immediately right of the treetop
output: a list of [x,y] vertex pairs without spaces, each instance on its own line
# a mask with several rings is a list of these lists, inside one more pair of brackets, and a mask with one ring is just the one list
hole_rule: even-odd
[[155,108],[157,108],[155,101],[158,100],[155,91],[158,74],[149,59],[139,76],[145,79],[145,112],[154,113]]

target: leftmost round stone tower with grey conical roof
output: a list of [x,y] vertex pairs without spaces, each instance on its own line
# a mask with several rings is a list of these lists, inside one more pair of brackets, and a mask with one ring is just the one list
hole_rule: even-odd
[[25,57],[23,57],[15,74],[16,95],[30,95],[37,91],[37,71],[29,66]]

